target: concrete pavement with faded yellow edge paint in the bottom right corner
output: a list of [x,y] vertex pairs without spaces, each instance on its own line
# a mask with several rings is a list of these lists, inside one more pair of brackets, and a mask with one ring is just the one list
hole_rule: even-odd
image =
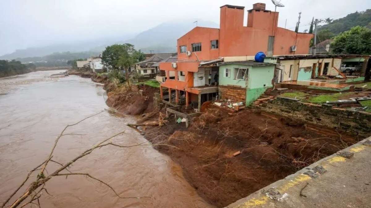
[[228,206],[250,207],[370,208],[371,137]]

